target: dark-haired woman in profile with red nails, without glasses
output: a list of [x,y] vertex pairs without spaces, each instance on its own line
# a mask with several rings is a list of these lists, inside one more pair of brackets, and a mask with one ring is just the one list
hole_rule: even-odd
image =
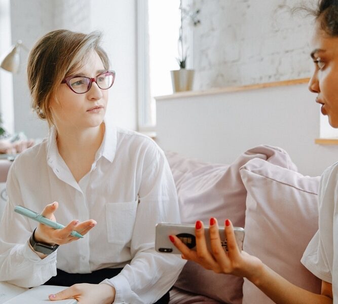
[[[338,1],[321,0],[317,10],[311,57],[315,70],[309,90],[317,95],[321,112],[332,127],[338,128]],[[262,263],[257,257],[240,251],[233,225],[226,220],[229,253],[221,247],[218,223],[210,219],[212,251],[208,251],[203,222],[196,222],[197,252],[187,248],[176,236],[170,240],[182,257],[198,262],[216,273],[245,277],[276,303],[338,303],[338,163],[327,168],[319,189],[319,230],[309,243],[302,263],[322,280],[321,294],[297,287]],[[295,223],[296,224],[296,223]],[[290,253],[292,254],[292,253]]]

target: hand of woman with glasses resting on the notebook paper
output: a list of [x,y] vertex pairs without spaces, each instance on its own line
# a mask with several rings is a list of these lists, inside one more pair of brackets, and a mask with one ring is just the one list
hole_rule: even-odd
[[115,288],[108,284],[74,284],[58,293],[50,294],[52,301],[74,298],[79,304],[111,304],[115,299]]

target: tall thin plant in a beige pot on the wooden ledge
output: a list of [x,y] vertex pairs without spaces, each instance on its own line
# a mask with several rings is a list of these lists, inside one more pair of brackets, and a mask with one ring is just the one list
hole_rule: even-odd
[[187,48],[184,49],[183,42],[183,23],[186,19],[192,21],[194,26],[200,24],[200,20],[197,18],[200,10],[184,9],[182,7],[182,1],[180,2],[179,10],[181,13],[181,22],[179,27],[178,37],[178,58],[177,62],[179,70],[172,70],[171,81],[174,92],[190,91],[193,88],[194,73],[193,69],[186,68]]

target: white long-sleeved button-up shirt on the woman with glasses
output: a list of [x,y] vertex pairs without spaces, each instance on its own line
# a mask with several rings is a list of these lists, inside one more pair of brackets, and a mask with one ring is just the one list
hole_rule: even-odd
[[[157,222],[179,222],[176,189],[163,151],[150,138],[106,124],[95,161],[79,183],[58,153],[54,128],[48,139],[20,154],[11,166],[9,201],[0,224],[0,281],[32,287],[56,275],[122,268],[104,283],[114,303],[152,303],[174,284],[184,261],[154,249]],[[37,222],[13,211],[41,212],[59,203],[56,220],[95,219],[83,238],[41,259],[28,240]]]

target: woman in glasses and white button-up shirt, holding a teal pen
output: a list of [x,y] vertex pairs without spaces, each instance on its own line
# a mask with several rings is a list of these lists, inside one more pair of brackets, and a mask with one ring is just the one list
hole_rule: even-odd
[[[153,140],[104,118],[115,71],[99,42],[56,30],[30,52],[32,105],[50,134],[11,166],[0,280],[70,286],[51,300],[167,303],[184,262],[155,251],[155,225],[179,221],[175,185]],[[18,204],[65,227],[36,225]]]

